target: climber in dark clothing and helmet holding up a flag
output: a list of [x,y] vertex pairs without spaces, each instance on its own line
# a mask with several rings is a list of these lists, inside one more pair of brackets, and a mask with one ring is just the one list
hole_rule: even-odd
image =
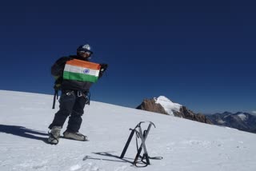
[[[83,109],[86,104],[90,102],[90,86],[93,82],[81,81],[74,78],[63,79],[63,73],[66,66],[66,62],[89,62],[90,56],[93,52],[90,50],[90,45],[86,44],[79,46],[77,49],[77,55],[70,55],[69,57],[62,57],[54,63],[51,67],[51,74],[56,79],[55,89],[61,89],[62,95],[59,100],[59,110],[55,113],[54,120],[49,125],[50,135],[48,142],[50,144],[57,145],[60,137],[62,126],[64,125],[66,118],[69,117],[66,131],[63,133],[63,137],[86,141],[87,137],[82,133],[79,133],[80,126],[82,124]],[[106,71],[107,64],[100,64],[100,70],[98,77],[101,78],[102,74]]]

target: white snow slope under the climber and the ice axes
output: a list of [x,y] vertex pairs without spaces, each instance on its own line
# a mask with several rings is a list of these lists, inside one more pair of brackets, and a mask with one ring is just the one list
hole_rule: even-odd
[[[91,101],[80,129],[90,141],[60,139],[49,145],[47,127],[58,110],[58,105],[51,109],[53,96],[3,90],[0,96],[1,171],[256,170],[254,133]],[[118,158],[139,121],[154,122],[146,147],[150,157],[163,157],[145,168],[130,163],[134,138],[125,160]]]

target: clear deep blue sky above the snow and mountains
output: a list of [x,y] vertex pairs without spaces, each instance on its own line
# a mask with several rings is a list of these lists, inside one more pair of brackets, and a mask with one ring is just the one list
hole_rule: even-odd
[[[254,1],[4,1],[0,89],[54,93],[50,66],[89,42],[105,77],[92,100],[164,95],[194,112],[256,110]],[[51,107],[51,106],[50,106]]]

